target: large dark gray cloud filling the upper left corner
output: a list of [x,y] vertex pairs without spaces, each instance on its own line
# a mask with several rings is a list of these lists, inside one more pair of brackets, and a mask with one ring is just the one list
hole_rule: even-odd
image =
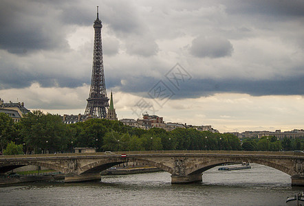
[[66,48],[65,32],[56,21],[52,5],[34,1],[0,3],[0,49],[26,54],[39,49]]

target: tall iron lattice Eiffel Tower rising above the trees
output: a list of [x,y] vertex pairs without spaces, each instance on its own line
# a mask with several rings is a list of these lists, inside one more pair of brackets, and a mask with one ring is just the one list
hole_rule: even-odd
[[100,119],[107,117],[107,108],[109,107],[109,98],[107,98],[107,90],[105,88],[105,72],[103,69],[101,28],[102,24],[98,17],[97,7],[97,19],[94,21],[95,35],[91,88],[89,98],[87,99],[85,115],[92,115]]

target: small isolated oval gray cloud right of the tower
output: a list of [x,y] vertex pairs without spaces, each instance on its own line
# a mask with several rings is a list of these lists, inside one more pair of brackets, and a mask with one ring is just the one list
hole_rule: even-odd
[[199,36],[193,39],[189,52],[196,57],[220,58],[231,56],[233,47],[226,38]]

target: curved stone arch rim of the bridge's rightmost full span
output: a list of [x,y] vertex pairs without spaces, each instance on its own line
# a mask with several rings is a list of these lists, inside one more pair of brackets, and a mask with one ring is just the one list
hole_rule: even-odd
[[237,162],[248,162],[248,163],[258,163],[261,165],[266,165],[270,168],[274,168],[276,170],[280,170],[290,176],[294,175],[294,170],[287,168],[285,165],[281,165],[278,163],[274,163],[271,161],[266,161],[263,159],[253,159],[253,158],[242,158],[242,157],[233,157],[233,158],[222,158],[222,159],[211,159],[210,161],[204,161],[202,163],[197,163],[193,165],[191,168],[186,170],[186,174],[198,174],[202,173],[206,170],[214,168],[218,165],[222,165],[225,163],[237,163]]

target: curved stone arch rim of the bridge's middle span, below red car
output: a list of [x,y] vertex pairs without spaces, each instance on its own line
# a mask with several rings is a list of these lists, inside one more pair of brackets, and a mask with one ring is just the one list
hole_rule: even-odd
[[83,167],[80,168],[79,174],[86,174],[86,173],[91,173],[91,172],[101,172],[102,170],[111,168],[113,165],[118,165],[120,163],[125,163],[125,162],[135,162],[135,163],[151,165],[155,168],[159,168],[160,170],[173,174],[173,169],[162,163],[158,163],[158,162],[150,161],[150,160],[146,160],[146,159],[134,158],[134,157],[129,157],[129,158],[125,158],[125,159],[122,159],[122,158],[102,159],[100,161],[96,161],[94,163],[84,165]]

